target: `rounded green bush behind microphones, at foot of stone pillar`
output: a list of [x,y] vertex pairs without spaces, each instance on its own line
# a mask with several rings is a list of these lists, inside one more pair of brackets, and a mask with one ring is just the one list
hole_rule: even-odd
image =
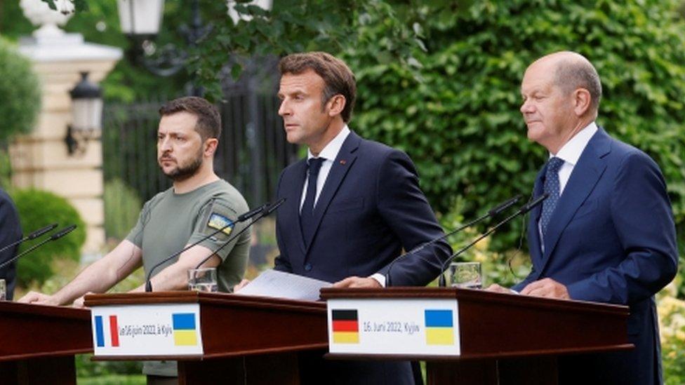
[[[58,223],[60,227],[76,224],[77,228],[58,241],[46,243],[36,249],[31,255],[19,259],[17,266],[18,283],[24,287],[29,284],[41,285],[53,276],[52,264],[57,259],[72,259],[78,261],[81,257],[81,246],[86,241],[86,225],[79,212],[61,196],[49,191],[36,189],[15,190],[11,193],[17,205],[19,217],[24,233],[28,234],[51,223]],[[37,241],[25,242],[20,252],[27,250]]]

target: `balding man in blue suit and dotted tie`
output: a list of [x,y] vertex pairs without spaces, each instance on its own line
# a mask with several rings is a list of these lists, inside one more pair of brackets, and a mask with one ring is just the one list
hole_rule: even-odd
[[521,95],[528,139],[550,151],[533,196],[550,197],[531,212],[533,269],[514,290],[630,306],[635,349],[560,357],[560,383],[661,384],[654,294],[675,276],[678,259],[663,176],[644,152],[594,123],[601,84],[578,53],[533,62]]

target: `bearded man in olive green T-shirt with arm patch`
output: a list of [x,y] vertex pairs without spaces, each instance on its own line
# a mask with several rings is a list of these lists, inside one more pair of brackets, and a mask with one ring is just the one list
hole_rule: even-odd
[[[181,97],[159,110],[157,161],[173,187],[145,203],[138,224],[114,250],[86,267],[72,282],[53,295],[29,292],[19,302],[83,306],[89,292],[106,292],[141,265],[146,275],[162,259],[200,241],[203,237],[233,224],[189,248],[154,270],[154,291],[187,290],[187,271],[206,257],[203,267],[216,267],[220,291],[240,282],[246,269],[250,234],[245,231],[229,245],[232,234],[246,224],[237,218],[248,211],[241,194],[221,180],[213,168],[221,133],[217,109],[200,97]],[[216,251],[223,247],[220,251]],[[142,292],[144,285],[133,290]],[[146,364],[144,372],[175,376],[175,365]]]

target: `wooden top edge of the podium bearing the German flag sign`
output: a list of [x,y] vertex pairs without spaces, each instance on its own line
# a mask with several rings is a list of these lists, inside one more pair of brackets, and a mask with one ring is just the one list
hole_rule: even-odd
[[416,287],[397,287],[383,289],[321,289],[323,299],[459,299],[470,302],[489,302],[497,304],[508,304],[510,306],[543,307],[559,310],[578,310],[593,311],[601,313],[611,313],[620,316],[628,316],[630,308],[628,306],[616,304],[600,304],[597,302],[584,302],[565,299],[552,299],[542,297],[531,297],[528,295],[505,294],[499,292],[488,292],[485,290],[459,289],[459,288],[416,288]]

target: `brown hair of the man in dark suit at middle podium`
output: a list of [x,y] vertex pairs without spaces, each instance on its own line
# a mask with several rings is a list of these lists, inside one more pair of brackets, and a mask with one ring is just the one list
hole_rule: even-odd
[[349,122],[352,118],[354,100],[357,98],[357,80],[354,79],[350,67],[347,67],[342,60],[325,52],[293,53],[282,58],[279,62],[281,76],[284,74],[299,75],[309,69],[324,79],[326,87],[324,88],[324,95],[322,95],[321,105],[326,105],[326,102],[334,95],[344,96],[345,108],[342,109],[340,116],[342,116],[342,121]]

